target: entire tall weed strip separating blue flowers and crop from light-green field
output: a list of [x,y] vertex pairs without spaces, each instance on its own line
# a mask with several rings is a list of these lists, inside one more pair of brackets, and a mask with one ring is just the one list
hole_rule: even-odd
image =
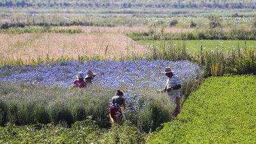
[[[246,42],[245,42],[246,43]],[[160,46],[151,45],[151,53],[147,59],[193,60],[201,63],[204,75],[223,76],[225,74],[256,74],[256,50],[245,47],[205,50],[201,45],[200,53],[188,53],[185,42],[172,44],[172,41],[162,41]]]

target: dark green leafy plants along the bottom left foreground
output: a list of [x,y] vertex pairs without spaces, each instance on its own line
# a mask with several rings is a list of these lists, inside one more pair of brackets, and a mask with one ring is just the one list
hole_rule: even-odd
[[76,121],[71,128],[52,124],[0,127],[0,143],[145,143],[146,135],[126,121],[100,129],[95,121]]

